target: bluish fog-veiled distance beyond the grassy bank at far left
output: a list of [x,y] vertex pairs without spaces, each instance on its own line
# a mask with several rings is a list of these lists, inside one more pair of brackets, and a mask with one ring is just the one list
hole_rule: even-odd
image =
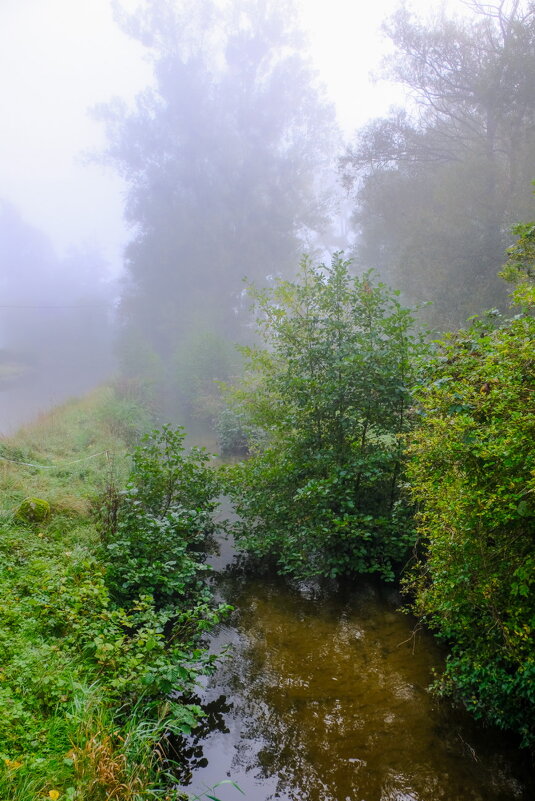
[[90,247],[60,257],[0,203],[0,397],[13,429],[111,374],[118,288]]

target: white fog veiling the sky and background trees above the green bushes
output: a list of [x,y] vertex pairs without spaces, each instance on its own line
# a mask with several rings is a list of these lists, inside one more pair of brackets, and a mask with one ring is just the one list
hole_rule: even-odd
[[0,431],[118,375],[213,425],[243,279],[305,252],[344,250],[438,329],[505,304],[531,4],[349,5],[4,0]]

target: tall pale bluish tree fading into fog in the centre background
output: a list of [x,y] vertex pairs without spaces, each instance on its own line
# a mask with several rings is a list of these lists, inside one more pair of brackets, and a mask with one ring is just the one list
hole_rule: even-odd
[[288,0],[146,0],[118,16],[154,67],[134,110],[101,109],[135,226],[125,352],[170,374],[196,331],[240,336],[244,276],[296,267],[300,233],[325,217],[333,111]]

